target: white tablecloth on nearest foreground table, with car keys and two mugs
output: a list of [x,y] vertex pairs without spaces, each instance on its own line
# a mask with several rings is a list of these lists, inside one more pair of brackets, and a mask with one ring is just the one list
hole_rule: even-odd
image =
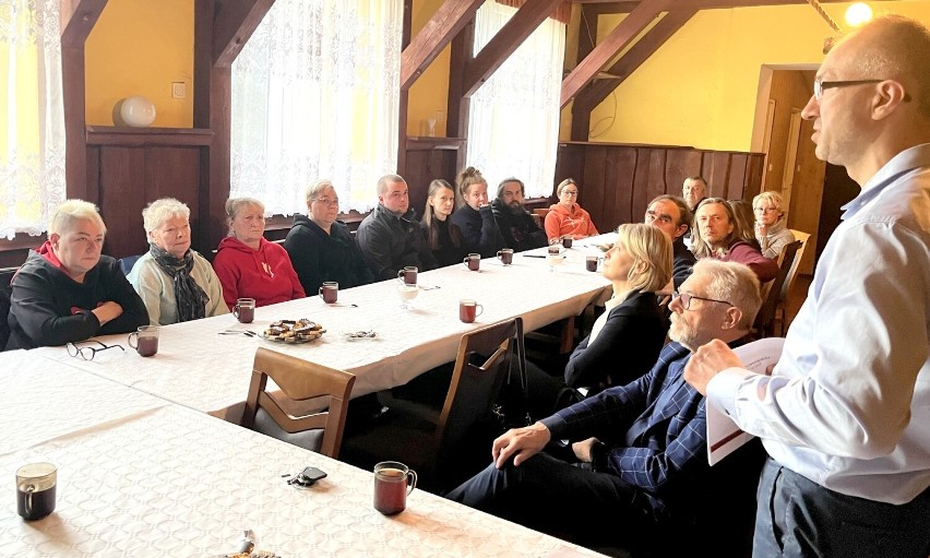
[[[72,405],[62,389],[15,409],[4,399],[0,411],[4,436],[34,434],[0,454],[3,556],[208,557],[233,553],[246,529],[257,549],[287,558],[596,556],[422,490],[405,512],[383,517],[372,508],[370,472],[178,405],[142,411],[143,394],[110,384],[112,392],[88,375],[71,382],[62,368],[50,373],[63,375],[83,404]],[[0,377],[9,384],[12,373]],[[20,395],[48,387],[40,369],[15,378],[29,384]],[[126,400],[121,407],[114,395]],[[13,424],[17,411],[41,403],[68,406],[73,427],[49,427],[48,414]],[[57,508],[25,522],[15,511],[14,472],[34,461],[58,466]],[[286,484],[283,475],[310,465],[329,476],[308,490]]]

